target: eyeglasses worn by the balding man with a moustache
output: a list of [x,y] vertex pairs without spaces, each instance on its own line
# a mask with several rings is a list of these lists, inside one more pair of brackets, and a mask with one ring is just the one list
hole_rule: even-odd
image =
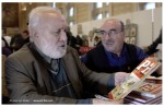
[[118,33],[121,33],[122,32],[122,29],[121,31],[116,31],[116,29],[112,29],[112,31],[108,31],[108,32],[106,32],[106,31],[96,31],[96,33],[99,35],[99,36],[105,36],[105,35],[116,35],[116,34],[118,34]]

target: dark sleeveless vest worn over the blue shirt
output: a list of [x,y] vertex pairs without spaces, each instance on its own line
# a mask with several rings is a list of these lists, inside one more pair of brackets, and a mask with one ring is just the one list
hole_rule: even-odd
[[125,44],[127,47],[127,64],[121,67],[121,70],[118,68],[112,68],[108,62],[107,55],[105,54],[105,49],[103,45],[97,46],[86,54],[87,61],[85,66],[90,70],[94,70],[97,72],[106,72],[106,73],[115,73],[119,71],[131,72],[141,61],[137,58],[136,46],[130,44]]

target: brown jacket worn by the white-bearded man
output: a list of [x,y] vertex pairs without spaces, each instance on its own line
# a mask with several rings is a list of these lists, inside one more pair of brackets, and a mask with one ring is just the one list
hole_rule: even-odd
[[[28,48],[30,46],[24,45],[7,59],[5,81],[11,103],[75,104],[79,99],[84,98],[85,86],[93,92],[99,92],[99,94],[108,93],[107,84],[114,86],[113,74],[99,74],[90,71],[79,60],[78,52],[68,47],[66,56],[61,58],[61,62],[72,83],[77,99],[52,96],[50,75],[45,66],[34,57]],[[43,99],[50,102],[34,102]]]

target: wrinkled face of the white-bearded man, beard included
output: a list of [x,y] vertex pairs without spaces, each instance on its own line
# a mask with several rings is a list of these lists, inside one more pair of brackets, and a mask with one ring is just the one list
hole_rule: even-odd
[[67,49],[66,21],[60,14],[46,13],[40,21],[34,44],[46,56],[58,59]]

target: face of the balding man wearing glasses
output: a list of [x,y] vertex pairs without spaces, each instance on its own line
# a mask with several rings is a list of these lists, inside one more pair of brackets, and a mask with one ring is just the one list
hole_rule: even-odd
[[125,32],[121,28],[121,24],[117,20],[106,21],[101,31],[104,32],[101,35],[102,44],[107,51],[119,55],[122,49]]

